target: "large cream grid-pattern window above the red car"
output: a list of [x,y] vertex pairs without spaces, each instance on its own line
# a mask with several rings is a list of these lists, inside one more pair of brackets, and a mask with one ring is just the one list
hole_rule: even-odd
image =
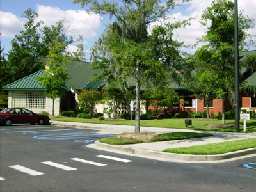
[[45,109],[45,95],[43,92],[13,91],[13,108]]

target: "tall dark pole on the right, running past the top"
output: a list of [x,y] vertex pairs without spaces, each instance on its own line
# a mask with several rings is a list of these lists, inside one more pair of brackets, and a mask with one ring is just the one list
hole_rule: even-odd
[[240,129],[239,113],[239,50],[238,50],[238,6],[235,0],[235,129]]

